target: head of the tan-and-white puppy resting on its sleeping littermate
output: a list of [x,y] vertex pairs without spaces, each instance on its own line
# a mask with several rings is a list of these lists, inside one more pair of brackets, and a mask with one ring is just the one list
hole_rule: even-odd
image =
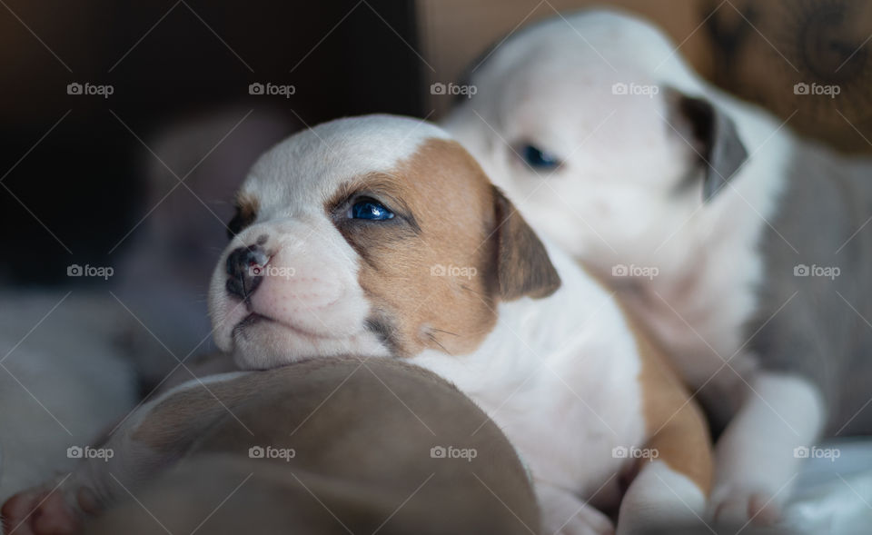
[[216,344],[245,368],[472,352],[498,302],[560,285],[520,214],[431,124],[374,115],[293,135],[237,201],[209,301]]

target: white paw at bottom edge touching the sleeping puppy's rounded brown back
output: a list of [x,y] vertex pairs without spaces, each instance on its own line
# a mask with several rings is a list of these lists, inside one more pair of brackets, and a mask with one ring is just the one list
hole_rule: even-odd
[[613,535],[611,520],[569,490],[536,482],[542,535]]

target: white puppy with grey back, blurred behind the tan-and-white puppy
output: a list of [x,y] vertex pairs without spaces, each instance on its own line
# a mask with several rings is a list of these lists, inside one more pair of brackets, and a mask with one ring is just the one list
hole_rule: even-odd
[[615,12],[522,29],[469,83],[443,125],[726,427],[712,512],[777,519],[823,431],[872,430],[872,166],[798,141]]

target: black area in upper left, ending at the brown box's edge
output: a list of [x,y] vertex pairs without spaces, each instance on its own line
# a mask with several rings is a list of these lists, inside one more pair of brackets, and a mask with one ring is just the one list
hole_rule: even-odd
[[[7,282],[66,282],[70,263],[112,265],[124,254],[126,243],[108,252],[148,210],[140,164],[147,149],[134,134],[146,140],[174,117],[234,102],[304,124],[422,108],[421,62],[401,42],[416,40],[411,2],[370,0],[350,14],[357,3],[344,0],[4,2],[0,280]],[[249,84],[266,81],[293,84],[296,93],[248,94]],[[69,95],[71,82],[112,84],[114,94]]]

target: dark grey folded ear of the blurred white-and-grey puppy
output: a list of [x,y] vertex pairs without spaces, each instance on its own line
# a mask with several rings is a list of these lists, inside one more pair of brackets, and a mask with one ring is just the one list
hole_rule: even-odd
[[705,166],[702,194],[708,202],[745,163],[748,151],[733,120],[708,100],[676,90],[669,90],[667,99],[673,126],[682,135],[689,135],[688,141],[694,145],[700,164]]

